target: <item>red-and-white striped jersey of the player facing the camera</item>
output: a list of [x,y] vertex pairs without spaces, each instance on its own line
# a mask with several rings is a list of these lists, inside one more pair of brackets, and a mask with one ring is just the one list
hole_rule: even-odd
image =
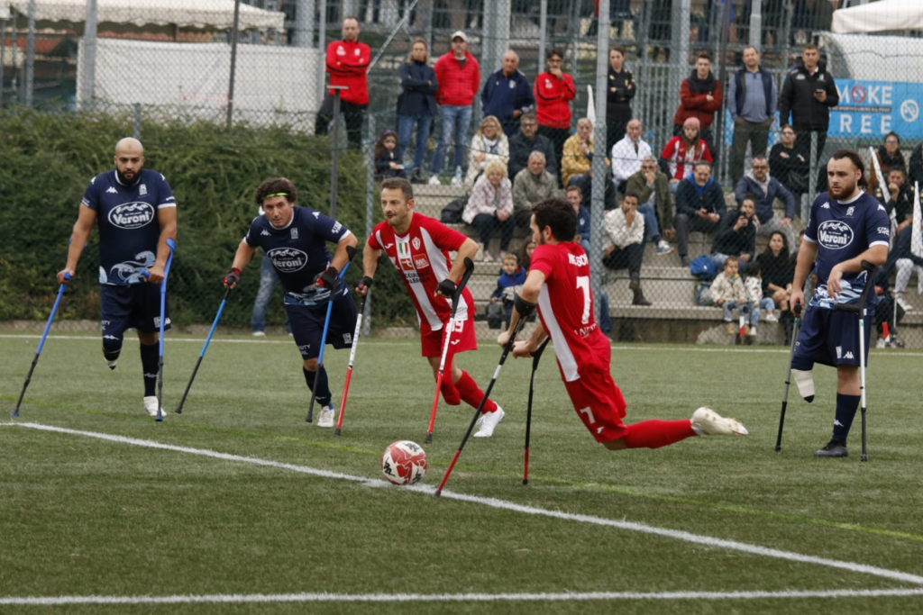
[[[453,231],[437,219],[414,213],[410,229],[405,235],[395,234],[386,221],[378,222],[368,238],[368,245],[384,250],[391,263],[403,275],[404,286],[410,292],[416,306],[416,315],[421,328],[429,325],[433,331],[442,328],[449,321],[451,300],[436,294],[439,282],[449,277],[452,263],[450,252],[457,252],[468,239],[459,231]],[[471,291],[462,290],[456,320],[468,319],[468,312],[474,311]]]

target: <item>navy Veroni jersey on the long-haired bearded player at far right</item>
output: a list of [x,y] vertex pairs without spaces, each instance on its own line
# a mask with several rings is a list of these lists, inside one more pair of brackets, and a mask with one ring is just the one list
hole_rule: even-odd
[[[891,222],[888,212],[874,196],[861,193],[850,201],[839,202],[828,193],[814,200],[810,208],[805,240],[818,246],[817,287],[811,303],[831,307],[827,278],[833,266],[855,258],[873,245],[888,246]],[[866,273],[845,273],[839,302],[855,301],[862,292]]]

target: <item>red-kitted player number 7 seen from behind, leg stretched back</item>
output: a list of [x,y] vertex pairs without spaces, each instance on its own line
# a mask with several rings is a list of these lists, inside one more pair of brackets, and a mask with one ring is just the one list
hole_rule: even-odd
[[545,199],[533,207],[531,228],[538,246],[514,300],[509,330],[497,342],[505,346],[516,323],[538,304],[542,326],[515,343],[513,356],[532,356],[550,334],[570,401],[596,442],[618,451],[660,448],[695,435],[747,435],[737,420],[725,419],[711,408],[697,409],[691,420],[622,423],[626,403],[609,373],[612,349],[593,317],[590,261],[573,242],[577,214],[563,199]]

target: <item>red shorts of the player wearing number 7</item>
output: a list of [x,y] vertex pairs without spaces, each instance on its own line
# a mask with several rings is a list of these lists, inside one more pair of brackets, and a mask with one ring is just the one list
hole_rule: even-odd
[[625,437],[625,397],[612,380],[608,361],[593,361],[578,368],[580,378],[565,381],[570,401],[596,442],[611,442]]

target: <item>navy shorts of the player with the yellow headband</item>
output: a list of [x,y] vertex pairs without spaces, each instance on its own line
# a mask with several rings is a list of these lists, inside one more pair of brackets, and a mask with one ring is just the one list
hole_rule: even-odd
[[[320,337],[324,333],[324,321],[327,319],[327,302],[318,305],[285,304],[289,324],[292,325],[294,343],[304,359],[317,359],[320,354]],[[349,287],[342,285],[333,300],[330,311],[330,328],[327,331],[327,343],[335,349],[350,348],[355,333],[355,303]]]

